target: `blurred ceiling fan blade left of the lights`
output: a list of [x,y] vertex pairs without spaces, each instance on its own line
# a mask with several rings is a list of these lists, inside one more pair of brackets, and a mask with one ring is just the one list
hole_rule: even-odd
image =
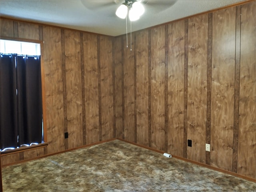
[[121,0],[81,0],[82,4],[89,10],[97,10],[113,6]]

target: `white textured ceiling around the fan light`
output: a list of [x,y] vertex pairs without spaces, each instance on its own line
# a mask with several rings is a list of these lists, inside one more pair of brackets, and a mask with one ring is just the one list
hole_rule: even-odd
[[[213,10],[244,0],[142,0],[145,13],[132,31]],[[0,0],[0,16],[118,36],[126,22],[115,15],[124,0]],[[130,22],[128,22],[128,32]]]

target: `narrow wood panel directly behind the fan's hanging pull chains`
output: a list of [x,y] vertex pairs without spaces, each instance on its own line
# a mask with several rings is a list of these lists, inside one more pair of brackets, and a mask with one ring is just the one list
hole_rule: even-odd
[[[126,37],[122,39],[126,42]],[[130,39],[128,38],[128,42]],[[134,38],[132,36],[132,42]],[[124,49],[124,138],[134,142],[134,45]]]

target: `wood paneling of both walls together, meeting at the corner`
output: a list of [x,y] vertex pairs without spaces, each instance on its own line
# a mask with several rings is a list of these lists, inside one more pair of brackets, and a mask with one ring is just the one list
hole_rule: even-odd
[[44,41],[48,142],[2,164],[118,137],[256,178],[255,10],[134,32],[132,50],[126,36],[1,18],[1,37]]

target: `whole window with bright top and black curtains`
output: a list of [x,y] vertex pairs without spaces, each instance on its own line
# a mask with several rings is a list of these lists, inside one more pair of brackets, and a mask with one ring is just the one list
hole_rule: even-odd
[[0,40],[2,151],[44,142],[40,44]]

